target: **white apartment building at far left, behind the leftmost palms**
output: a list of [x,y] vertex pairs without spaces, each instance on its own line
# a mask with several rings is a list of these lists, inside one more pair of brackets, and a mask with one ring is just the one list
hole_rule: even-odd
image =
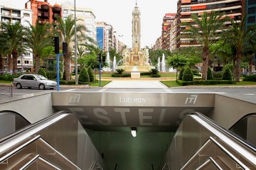
[[[26,8],[15,8],[11,4],[0,3],[0,19],[3,23],[21,23],[22,26],[28,27],[32,23],[32,11]],[[33,68],[33,54],[31,50],[24,52],[18,57],[18,69],[31,70]],[[8,68],[8,59],[4,58],[4,69]]]

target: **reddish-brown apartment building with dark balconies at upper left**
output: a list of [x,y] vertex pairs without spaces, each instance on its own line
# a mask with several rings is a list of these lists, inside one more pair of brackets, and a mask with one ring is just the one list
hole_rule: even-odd
[[39,23],[56,23],[57,17],[62,17],[62,8],[58,4],[53,6],[48,3],[47,0],[36,1],[29,0],[25,4],[25,8],[31,9],[32,11],[32,24],[36,26],[36,22]]

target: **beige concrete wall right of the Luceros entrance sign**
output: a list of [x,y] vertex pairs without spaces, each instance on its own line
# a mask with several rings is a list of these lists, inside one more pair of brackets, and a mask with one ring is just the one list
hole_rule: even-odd
[[230,94],[215,94],[214,110],[208,117],[229,129],[248,113],[256,113],[256,103]]

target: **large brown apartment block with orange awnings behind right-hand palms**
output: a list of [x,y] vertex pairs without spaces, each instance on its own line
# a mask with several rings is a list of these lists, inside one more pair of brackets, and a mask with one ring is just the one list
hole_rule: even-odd
[[[242,0],[178,0],[177,9],[177,36],[183,34],[186,26],[182,23],[192,22],[191,15],[201,16],[203,12],[220,11],[226,16],[240,22],[242,18]],[[226,23],[228,26],[230,23]],[[177,40],[177,49],[181,47],[198,46],[195,40],[180,38]]]

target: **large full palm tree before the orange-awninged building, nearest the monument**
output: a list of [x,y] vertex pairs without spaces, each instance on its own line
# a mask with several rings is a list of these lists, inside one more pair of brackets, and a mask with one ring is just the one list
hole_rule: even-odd
[[209,47],[218,39],[218,30],[221,30],[227,18],[223,18],[223,14],[216,11],[209,14],[204,12],[200,18],[192,14],[191,18],[193,22],[185,23],[188,29],[184,32],[186,32],[186,37],[196,40],[203,47],[202,79],[206,80],[210,55]]

